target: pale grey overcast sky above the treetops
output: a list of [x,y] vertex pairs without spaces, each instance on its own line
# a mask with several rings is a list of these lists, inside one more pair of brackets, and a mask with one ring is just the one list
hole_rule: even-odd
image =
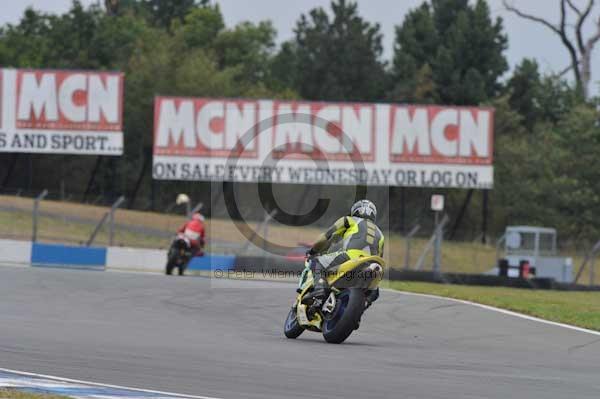
[[[511,0],[513,4],[529,13],[558,21],[558,0]],[[587,0],[574,0],[575,3],[587,3]],[[97,3],[98,0],[82,0],[84,4]],[[260,21],[270,19],[278,32],[278,41],[287,40],[293,35],[293,27],[301,13],[321,6],[329,9],[329,0],[218,0],[228,26],[240,21]],[[378,22],[383,32],[385,58],[390,59],[394,40],[394,26],[401,23],[411,8],[417,7],[423,0],[358,0],[360,14],[371,22]],[[102,2],[103,3],[103,2]],[[507,57],[511,68],[524,57],[537,59],[542,71],[561,71],[569,65],[568,54],[560,44],[559,38],[548,28],[524,21],[503,10],[502,0],[488,0],[494,16],[502,16],[505,31],[509,37]],[[26,7],[62,13],[69,9],[71,0],[0,0],[0,24],[16,23]],[[593,19],[600,16],[600,7],[596,6]],[[588,34],[592,32],[592,19],[588,21]],[[600,45],[594,53],[594,70],[600,70]],[[593,76],[595,93],[599,92],[600,73]]]

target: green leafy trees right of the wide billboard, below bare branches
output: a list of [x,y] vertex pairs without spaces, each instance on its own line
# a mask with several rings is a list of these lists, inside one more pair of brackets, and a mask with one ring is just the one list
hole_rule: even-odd
[[494,105],[497,225],[553,226],[573,241],[597,237],[600,172],[590,167],[600,151],[597,110],[575,105],[526,134],[524,118],[511,109],[508,96]]

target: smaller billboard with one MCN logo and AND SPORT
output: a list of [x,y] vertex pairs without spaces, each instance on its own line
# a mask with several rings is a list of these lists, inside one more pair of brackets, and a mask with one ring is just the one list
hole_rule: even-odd
[[0,69],[0,152],[121,155],[123,75]]

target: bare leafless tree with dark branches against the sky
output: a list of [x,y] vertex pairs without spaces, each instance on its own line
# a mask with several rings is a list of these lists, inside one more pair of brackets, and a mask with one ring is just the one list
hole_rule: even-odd
[[[573,71],[577,89],[581,92],[583,98],[589,97],[589,86],[592,73],[592,51],[600,41],[600,16],[595,22],[595,32],[587,40],[583,38],[585,23],[591,15],[595,0],[588,0],[585,8],[578,8],[572,0],[559,0],[560,6],[560,22],[558,24],[551,23],[543,18],[521,11],[514,5],[511,5],[507,0],[503,0],[504,7],[518,15],[521,18],[542,24],[552,32],[556,33],[560,40],[569,52],[571,58],[570,66],[559,75],[562,76],[569,70]],[[572,25],[572,34],[575,40],[569,36],[568,23],[569,13],[567,7],[575,14],[575,24]]]

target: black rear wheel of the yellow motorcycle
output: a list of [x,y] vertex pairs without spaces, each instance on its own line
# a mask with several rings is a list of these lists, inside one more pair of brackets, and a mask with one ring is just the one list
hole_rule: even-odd
[[352,334],[365,310],[365,294],[361,288],[347,288],[336,298],[331,317],[323,321],[323,338],[330,344],[341,344]]

